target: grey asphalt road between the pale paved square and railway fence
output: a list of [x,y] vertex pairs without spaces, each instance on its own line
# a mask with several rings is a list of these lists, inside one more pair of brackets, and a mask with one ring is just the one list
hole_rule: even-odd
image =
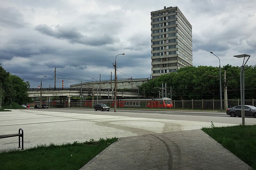
[[[168,120],[186,120],[198,122],[213,122],[213,123],[227,123],[227,124],[242,124],[241,117],[230,117],[226,112],[213,111],[184,111],[184,110],[119,110],[110,111],[94,111],[93,109],[75,109],[75,108],[49,108],[44,111],[69,112],[80,114],[94,114],[94,115],[110,115],[110,116],[127,116],[140,118],[155,118]],[[256,119],[253,117],[245,117],[245,124],[256,124]]]

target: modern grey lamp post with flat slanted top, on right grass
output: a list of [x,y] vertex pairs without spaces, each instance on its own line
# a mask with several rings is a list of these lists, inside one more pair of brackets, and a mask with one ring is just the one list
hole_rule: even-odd
[[244,58],[243,65],[241,66],[241,72],[240,72],[240,91],[241,91],[241,111],[242,111],[242,126],[245,125],[245,120],[244,120],[244,66],[251,57],[250,55],[247,54],[240,54],[240,55],[234,55],[234,57],[237,58]]

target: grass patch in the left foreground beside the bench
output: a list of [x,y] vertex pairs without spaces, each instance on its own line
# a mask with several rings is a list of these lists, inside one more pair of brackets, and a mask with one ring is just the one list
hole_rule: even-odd
[[118,138],[91,139],[84,143],[37,145],[24,151],[0,153],[0,169],[68,169],[77,170],[115,142]]

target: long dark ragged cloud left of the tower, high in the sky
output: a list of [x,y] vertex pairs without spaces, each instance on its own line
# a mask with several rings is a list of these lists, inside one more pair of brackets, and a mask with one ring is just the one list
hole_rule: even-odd
[[67,39],[68,42],[72,44],[78,43],[90,46],[102,46],[106,44],[113,44],[118,41],[117,39],[114,39],[109,35],[88,37],[78,32],[76,28],[62,27],[60,25],[57,25],[54,29],[46,24],[37,25],[35,27],[35,30],[39,31],[42,34],[55,37],[57,39]]

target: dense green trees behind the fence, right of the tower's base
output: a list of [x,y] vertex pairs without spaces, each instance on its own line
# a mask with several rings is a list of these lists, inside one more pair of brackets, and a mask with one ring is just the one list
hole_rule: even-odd
[[[226,83],[224,83],[224,70],[226,70]],[[229,64],[221,68],[222,96],[224,96],[224,86],[227,86],[228,99],[240,98],[240,70],[240,67]],[[145,98],[159,98],[159,93],[161,98],[162,83],[164,85],[166,83],[167,96],[170,97],[172,87],[173,100],[220,99],[219,75],[219,67],[183,67],[177,72],[149,80],[140,86],[140,91],[143,91]],[[256,98],[256,67],[245,66],[244,81],[245,99]]]

